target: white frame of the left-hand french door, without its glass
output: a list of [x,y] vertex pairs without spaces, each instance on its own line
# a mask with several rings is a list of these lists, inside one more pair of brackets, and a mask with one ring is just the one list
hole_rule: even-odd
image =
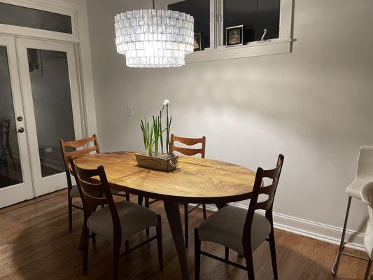
[[[8,68],[10,73],[10,87],[13,97],[13,108],[15,114],[16,129],[24,127],[24,112],[22,106],[22,94],[20,89],[20,79],[18,76],[17,54],[15,50],[15,39],[0,36],[0,45],[6,46],[8,54]],[[17,116],[22,116],[22,122],[17,121]],[[0,208],[17,202],[29,200],[34,197],[32,188],[29,151],[27,148],[27,133],[17,133],[18,149],[20,151],[20,163],[22,168],[22,183],[0,188]]]

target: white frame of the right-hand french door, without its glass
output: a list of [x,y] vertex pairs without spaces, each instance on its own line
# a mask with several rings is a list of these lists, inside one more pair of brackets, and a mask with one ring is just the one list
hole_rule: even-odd
[[[43,41],[39,39],[16,38],[16,48],[18,55],[18,65],[20,70],[20,80],[22,88],[22,97],[24,100],[24,116],[27,120],[26,131],[29,143],[29,155],[31,162],[31,174],[34,185],[35,196],[51,193],[55,190],[66,188],[66,173],[61,172],[51,176],[42,177],[40,156],[38,149],[38,137],[36,134],[36,120],[34,112],[34,102],[31,90],[31,80],[29,73],[29,64],[27,59],[27,48],[41,50],[55,50],[66,52],[69,68],[69,81],[71,92],[71,106],[73,109],[73,124],[76,139],[83,138],[82,111],[79,98],[78,72],[76,71],[76,56],[74,46],[69,43],[56,43],[52,41]],[[52,116],[45,116],[46,118]],[[62,157],[62,156],[61,156]]]

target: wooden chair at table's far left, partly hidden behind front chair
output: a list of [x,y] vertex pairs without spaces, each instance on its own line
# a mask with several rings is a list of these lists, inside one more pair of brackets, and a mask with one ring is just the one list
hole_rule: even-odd
[[[92,137],[80,140],[73,140],[73,141],[64,141],[61,139],[59,141],[61,145],[62,151],[62,158],[64,159],[64,167],[66,172],[66,179],[67,179],[67,201],[68,201],[68,211],[69,211],[69,230],[72,231],[73,228],[73,208],[83,210],[82,207],[73,204],[73,198],[79,198],[80,194],[78,191],[78,187],[73,185],[71,182],[71,170],[69,165],[69,158],[75,157],[79,158],[83,155],[88,155],[89,153],[100,153],[99,150],[99,141],[97,140],[96,134],[93,134]],[[83,146],[87,146],[88,144],[93,144],[89,148],[82,148]],[[82,148],[77,150],[78,148]],[[116,190],[113,191],[114,195],[125,196],[127,201],[129,201],[129,194],[122,194]]]

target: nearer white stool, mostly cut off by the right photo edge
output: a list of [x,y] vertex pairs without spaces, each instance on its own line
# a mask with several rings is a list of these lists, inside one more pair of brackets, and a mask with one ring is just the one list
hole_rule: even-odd
[[365,272],[364,280],[368,279],[370,266],[372,265],[373,259],[373,182],[367,183],[361,190],[361,198],[363,202],[368,204],[368,223],[367,230],[365,230],[364,245],[365,251],[369,256],[367,271]]

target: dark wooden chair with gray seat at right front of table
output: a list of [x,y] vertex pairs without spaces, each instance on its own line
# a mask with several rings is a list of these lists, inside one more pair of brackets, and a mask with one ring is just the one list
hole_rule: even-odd
[[[274,279],[278,279],[272,211],[282,166],[283,155],[279,155],[276,168],[270,170],[258,168],[248,210],[233,206],[224,207],[209,216],[199,225],[199,228],[195,229],[196,280],[199,280],[201,255],[245,269],[248,279],[254,280],[253,251],[265,240],[269,241]],[[272,179],[269,186],[262,186],[265,178]],[[258,202],[259,195],[267,197]],[[265,216],[258,214],[256,212],[258,209],[265,210]],[[225,246],[225,258],[201,251],[201,241],[213,241]],[[229,260],[229,248],[237,251],[239,255],[244,255],[246,266]]]

